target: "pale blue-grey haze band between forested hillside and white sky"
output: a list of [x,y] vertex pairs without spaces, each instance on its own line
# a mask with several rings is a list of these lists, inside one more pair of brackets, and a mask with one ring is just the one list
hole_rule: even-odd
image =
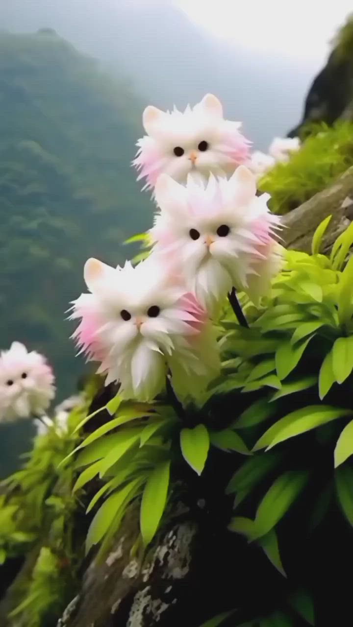
[[214,92],[261,149],[298,122],[315,71],[232,47],[168,0],[11,0],[0,4],[0,24],[11,31],[57,30],[124,73],[145,103],[185,107]]

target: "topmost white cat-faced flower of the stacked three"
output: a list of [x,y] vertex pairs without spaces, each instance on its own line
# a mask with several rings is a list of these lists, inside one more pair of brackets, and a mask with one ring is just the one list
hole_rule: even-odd
[[250,142],[239,130],[241,123],[225,120],[221,103],[210,93],[184,112],[150,105],[143,112],[143,126],[147,135],[138,140],[133,165],[138,181],[146,182],[144,189],[153,188],[162,173],[180,183],[188,174],[195,180],[207,180],[210,172],[229,176],[249,157]]

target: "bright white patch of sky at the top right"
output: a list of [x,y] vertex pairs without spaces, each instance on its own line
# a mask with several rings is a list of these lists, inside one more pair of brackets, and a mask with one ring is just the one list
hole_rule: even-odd
[[222,39],[298,63],[322,63],[352,0],[174,0],[198,24]]

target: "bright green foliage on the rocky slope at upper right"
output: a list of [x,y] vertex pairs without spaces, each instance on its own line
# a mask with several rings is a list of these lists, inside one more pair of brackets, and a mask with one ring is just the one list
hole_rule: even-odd
[[353,166],[353,124],[337,122],[310,127],[310,135],[288,163],[278,163],[261,177],[258,187],[271,194],[269,207],[285,214],[322,191]]

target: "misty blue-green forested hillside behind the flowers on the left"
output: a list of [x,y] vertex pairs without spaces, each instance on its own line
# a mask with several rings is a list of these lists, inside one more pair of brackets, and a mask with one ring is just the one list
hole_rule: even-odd
[[0,347],[48,355],[70,393],[68,302],[88,256],[117,263],[149,222],[130,167],[143,105],[55,32],[0,34]]

